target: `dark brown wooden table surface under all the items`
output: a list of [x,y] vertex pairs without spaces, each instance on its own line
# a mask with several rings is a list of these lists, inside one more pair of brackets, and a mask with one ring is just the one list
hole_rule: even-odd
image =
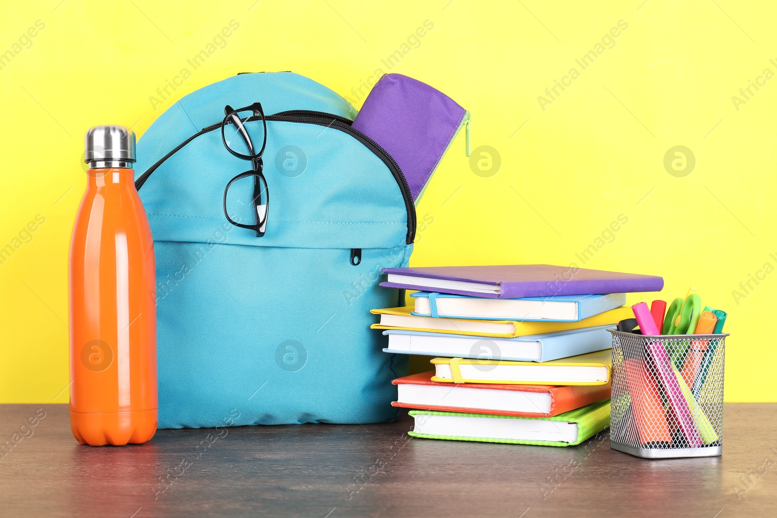
[[569,448],[413,439],[407,415],[221,437],[160,430],[93,448],[71,436],[66,405],[0,405],[0,516],[766,518],[777,516],[775,411],[725,405],[723,457],[646,461],[606,434]]

